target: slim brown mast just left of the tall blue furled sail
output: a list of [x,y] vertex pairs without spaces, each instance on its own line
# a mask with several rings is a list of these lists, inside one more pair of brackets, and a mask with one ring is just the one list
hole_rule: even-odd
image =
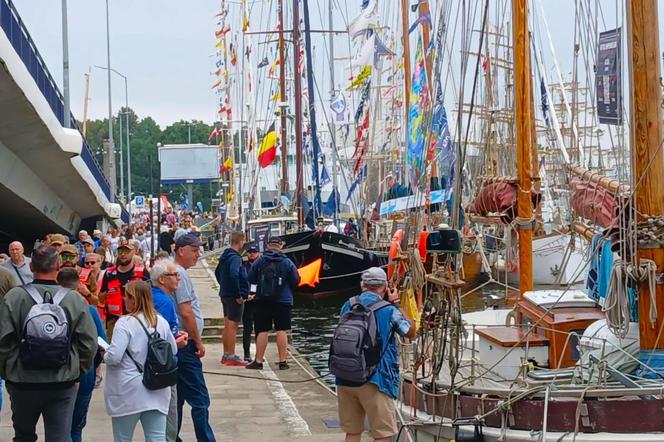
[[[300,76],[300,3],[293,1],[293,78],[295,100],[295,207],[297,207],[297,222],[304,224],[304,207],[302,207],[302,192],[304,187],[303,157],[302,157],[302,77]],[[309,91],[310,94],[313,91]]]

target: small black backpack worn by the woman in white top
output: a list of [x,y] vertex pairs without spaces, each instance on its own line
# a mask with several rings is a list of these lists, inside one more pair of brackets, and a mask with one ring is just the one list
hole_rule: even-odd
[[129,359],[134,361],[139,373],[143,374],[143,385],[148,390],[160,390],[166,387],[172,387],[178,383],[178,363],[173,355],[171,344],[157,332],[150,333],[145,325],[136,318],[145,334],[148,336],[148,355],[145,358],[145,363],[141,367],[138,362],[131,356],[129,350],[127,354]]

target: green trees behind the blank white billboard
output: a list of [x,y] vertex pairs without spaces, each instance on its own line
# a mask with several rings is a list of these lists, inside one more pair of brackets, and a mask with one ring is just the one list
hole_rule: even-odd
[[[162,144],[207,144],[212,132],[212,126],[203,121],[178,121],[163,130],[151,117],[140,118],[132,109],[122,108],[119,117],[122,118],[122,139],[125,162],[125,191],[127,187],[127,135],[125,121],[128,112],[129,139],[131,144],[131,191],[133,195],[157,195],[159,191],[159,163],[157,143]],[[87,124],[88,144],[94,152],[99,164],[103,164],[103,140],[108,138],[108,119],[92,120]],[[116,150],[116,176],[118,179],[118,192],[120,189],[120,121],[118,116],[113,118],[113,139]],[[152,177],[152,179],[150,179]],[[193,189],[194,203],[200,201],[205,210],[210,209],[210,199],[219,190],[219,184],[195,184]],[[184,200],[187,194],[185,185],[163,186],[162,194],[168,195],[172,202]]]

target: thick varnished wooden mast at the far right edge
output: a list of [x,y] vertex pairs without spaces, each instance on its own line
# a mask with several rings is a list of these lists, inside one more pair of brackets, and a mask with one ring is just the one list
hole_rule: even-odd
[[[629,54],[630,145],[632,184],[636,209],[649,216],[664,215],[664,152],[662,142],[662,92],[660,84],[659,23],[657,0],[626,0],[627,49]],[[638,186],[637,186],[638,184]],[[638,259],[664,267],[664,249],[641,249]],[[648,320],[650,297],[648,285],[639,286],[639,336],[642,352],[664,349],[658,339],[664,321],[664,286],[657,284],[657,321]]]

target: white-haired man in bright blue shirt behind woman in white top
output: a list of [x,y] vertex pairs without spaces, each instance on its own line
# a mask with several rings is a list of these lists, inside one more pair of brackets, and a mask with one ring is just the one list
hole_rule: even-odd
[[[175,263],[168,258],[158,259],[150,269],[150,279],[152,279],[152,303],[154,308],[168,322],[178,349],[182,349],[187,346],[188,335],[180,331],[175,301],[173,300],[175,291],[180,285],[180,274]],[[175,442],[178,436],[177,393],[177,385],[174,385],[171,387],[171,403],[166,417],[167,442]]]

